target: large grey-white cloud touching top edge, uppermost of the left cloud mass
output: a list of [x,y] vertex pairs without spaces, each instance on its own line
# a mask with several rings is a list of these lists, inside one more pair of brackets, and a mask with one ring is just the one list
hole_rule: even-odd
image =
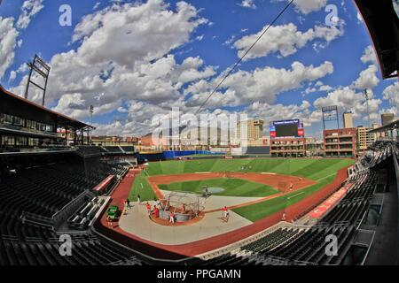
[[83,40],[78,53],[86,64],[112,60],[131,67],[188,42],[192,31],[205,23],[207,19],[198,17],[191,4],[178,2],[173,12],[161,0],[149,0],[145,4],[113,5],[84,17],[74,30],[73,40]]

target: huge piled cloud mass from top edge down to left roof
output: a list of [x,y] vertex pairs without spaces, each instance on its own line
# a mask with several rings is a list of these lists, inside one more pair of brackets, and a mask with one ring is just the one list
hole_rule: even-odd
[[[87,119],[91,104],[95,115],[135,111],[129,121],[137,123],[144,117],[126,103],[142,103],[151,110],[148,116],[162,107],[184,108],[184,84],[215,75],[215,67],[200,57],[178,64],[169,52],[190,42],[192,32],[205,23],[192,5],[179,2],[172,11],[160,0],[113,4],[85,16],[74,30],[77,50],[51,58],[47,103],[75,119]],[[12,91],[23,93],[26,80]],[[40,93],[31,90],[29,98],[39,101]]]

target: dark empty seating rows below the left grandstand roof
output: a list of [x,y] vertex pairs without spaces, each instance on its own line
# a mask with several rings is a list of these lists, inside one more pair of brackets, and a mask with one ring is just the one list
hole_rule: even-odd
[[87,219],[82,226],[70,223],[72,256],[59,255],[61,242],[53,227],[22,218],[25,213],[51,218],[107,176],[119,180],[128,170],[125,163],[107,164],[98,158],[82,161],[74,153],[54,161],[35,164],[30,160],[28,166],[9,172],[8,168],[16,167],[10,162],[0,174],[0,265],[141,264],[129,249],[87,230],[104,200],[91,198],[69,217]]

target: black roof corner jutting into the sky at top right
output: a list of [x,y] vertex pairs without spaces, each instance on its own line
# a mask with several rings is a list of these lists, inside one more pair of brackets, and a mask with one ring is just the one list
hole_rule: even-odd
[[[392,0],[355,0],[372,36],[384,79],[398,76],[399,17]],[[354,44],[356,44],[354,42]]]

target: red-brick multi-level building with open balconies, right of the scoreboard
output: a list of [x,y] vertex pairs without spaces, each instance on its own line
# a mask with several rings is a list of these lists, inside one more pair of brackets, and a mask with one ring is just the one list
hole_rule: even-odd
[[323,132],[326,157],[356,157],[356,128],[332,129]]

